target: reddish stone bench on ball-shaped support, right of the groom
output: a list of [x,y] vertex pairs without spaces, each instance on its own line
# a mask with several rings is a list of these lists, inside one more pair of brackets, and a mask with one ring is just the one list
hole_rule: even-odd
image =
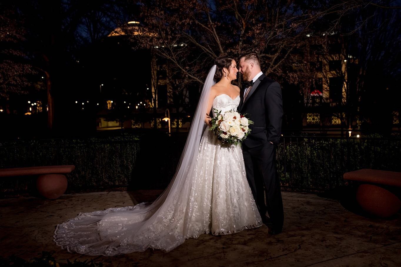
[[360,183],[356,200],[370,214],[387,218],[401,208],[399,196],[391,192],[401,188],[401,172],[361,169],[346,172],[343,178]]

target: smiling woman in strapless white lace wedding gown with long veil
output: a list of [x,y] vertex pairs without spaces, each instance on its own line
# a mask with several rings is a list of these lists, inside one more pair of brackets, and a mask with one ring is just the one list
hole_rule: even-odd
[[261,226],[241,148],[221,146],[208,126],[212,107],[222,113],[237,109],[239,88],[231,84],[237,72],[233,59],[215,60],[174,178],[153,203],[80,213],[57,225],[57,245],[87,255],[168,252],[203,233],[228,235]]

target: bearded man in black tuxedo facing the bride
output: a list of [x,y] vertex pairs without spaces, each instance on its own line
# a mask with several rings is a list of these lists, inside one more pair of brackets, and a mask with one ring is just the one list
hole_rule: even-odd
[[275,168],[275,148],[279,143],[283,117],[281,87],[262,73],[256,53],[240,58],[239,71],[243,81],[249,81],[250,85],[241,91],[238,110],[249,114],[249,119],[255,123],[249,126],[251,134],[242,146],[247,180],[263,223],[269,227],[269,234],[276,235],[281,233],[284,223],[283,200]]

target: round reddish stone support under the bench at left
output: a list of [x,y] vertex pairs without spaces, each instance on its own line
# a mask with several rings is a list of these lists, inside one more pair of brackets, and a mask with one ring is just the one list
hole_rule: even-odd
[[45,198],[58,198],[67,190],[67,178],[63,174],[44,174],[36,179],[36,188]]

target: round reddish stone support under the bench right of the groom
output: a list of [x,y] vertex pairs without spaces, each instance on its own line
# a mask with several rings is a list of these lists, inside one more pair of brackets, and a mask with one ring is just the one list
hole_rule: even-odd
[[401,201],[395,194],[373,184],[361,184],[356,200],[365,211],[381,218],[390,217],[401,208]]

